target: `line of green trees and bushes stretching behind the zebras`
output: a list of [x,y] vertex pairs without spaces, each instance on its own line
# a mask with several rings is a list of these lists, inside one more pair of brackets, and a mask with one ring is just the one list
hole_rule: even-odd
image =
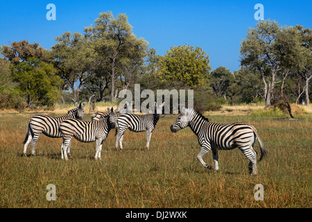
[[173,46],[159,56],[132,33],[126,15],[103,12],[83,34],[55,37],[51,49],[28,40],[1,46],[0,108],[116,103],[121,89],[133,90],[135,83],[141,90],[194,89],[199,110],[216,110],[223,103],[268,106],[283,96],[309,105],[311,34],[299,25],[260,21],[241,42],[241,68],[211,71],[209,55],[200,47]]

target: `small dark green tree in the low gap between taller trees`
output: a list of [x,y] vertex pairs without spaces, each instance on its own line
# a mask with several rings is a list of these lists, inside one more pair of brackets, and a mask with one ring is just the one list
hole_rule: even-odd
[[214,94],[218,98],[223,97],[227,100],[227,93],[232,83],[234,83],[234,75],[232,72],[225,67],[218,67],[214,71],[211,71],[209,80]]

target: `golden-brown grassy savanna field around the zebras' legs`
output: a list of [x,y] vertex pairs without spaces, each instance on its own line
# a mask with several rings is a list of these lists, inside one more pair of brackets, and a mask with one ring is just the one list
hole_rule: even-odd
[[[69,110],[71,108],[68,108]],[[302,109],[302,108],[301,108]],[[161,118],[146,149],[146,133],[126,131],[123,151],[114,151],[114,130],[95,161],[95,142],[71,143],[72,159],[61,160],[62,138],[40,136],[36,155],[22,155],[26,124],[34,114],[61,116],[67,110],[0,113],[0,207],[311,207],[311,107],[294,113],[260,107],[223,107],[206,112],[209,121],[245,122],[257,128],[268,156],[248,173],[249,160],[239,149],[219,151],[219,171],[196,160],[197,137],[189,128],[171,133],[177,115]],[[85,120],[90,114],[85,108]],[[105,108],[98,108],[99,111]],[[259,144],[254,146],[258,152]],[[204,157],[214,165],[212,153]],[[55,185],[48,201],[46,186]],[[263,200],[254,186],[263,185]]]

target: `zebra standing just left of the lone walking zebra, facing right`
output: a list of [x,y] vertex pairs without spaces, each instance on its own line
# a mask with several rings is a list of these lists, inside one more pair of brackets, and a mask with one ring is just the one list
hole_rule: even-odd
[[[162,109],[164,103],[157,105],[155,103],[156,110]],[[129,128],[133,132],[144,132],[146,131],[146,148],[149,149],[150,146],[150,137],[152,136],[153,130],[155,130],[157,121],[160,119],[162,114],[153,113],[152,110],[149,111],[149,114],[130,114],[125,113],[121,114],[116,119],[116,127],[119,128],[118,135],[116,137],[115,150],[118,148],[118,142],[120,144],[120,149],[123,149],[123,133]]]

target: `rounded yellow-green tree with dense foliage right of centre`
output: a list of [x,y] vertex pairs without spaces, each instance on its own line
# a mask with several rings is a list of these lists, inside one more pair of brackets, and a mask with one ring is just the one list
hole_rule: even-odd
[[204,87],[211,67],[209,56],[200,47],[173,46],[160,59],[157,75],[164,81],[187,87]]

